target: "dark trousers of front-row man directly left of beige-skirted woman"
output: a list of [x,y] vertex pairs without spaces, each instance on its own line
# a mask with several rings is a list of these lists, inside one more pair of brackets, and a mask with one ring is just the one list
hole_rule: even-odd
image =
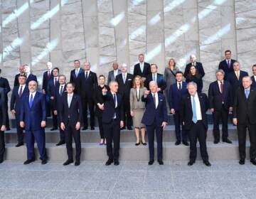
[[[107,141],[107,156],[111,160],[118,160],[120,148],[120,121],[112,119],[110,123],[103,123],[105,138]],[[112,143],[114,143],[114,150]]]

